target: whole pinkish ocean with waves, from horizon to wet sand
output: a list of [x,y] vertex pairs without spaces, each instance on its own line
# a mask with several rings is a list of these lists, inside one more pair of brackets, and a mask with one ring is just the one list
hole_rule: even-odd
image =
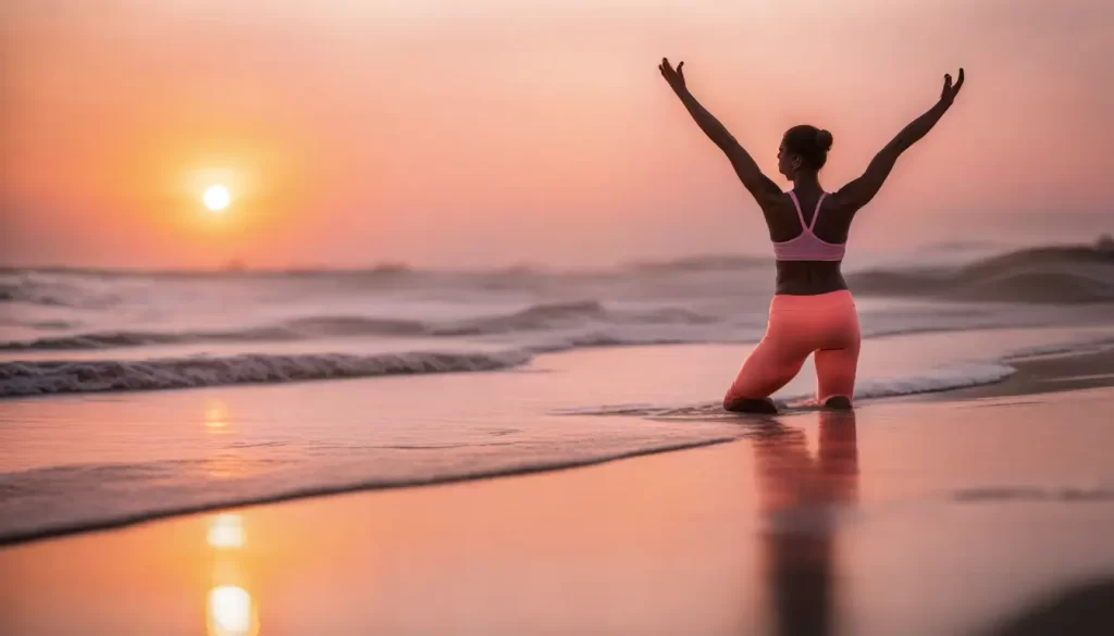
[[[719,401],[772,277],[752,257],[2,271],[0,541],[732,439]],[[847,277],[860,400],[996,382],[1010,355],[1114,339],[1108,249],[948,245]],[[776,397],[809,408],[810,373]]]

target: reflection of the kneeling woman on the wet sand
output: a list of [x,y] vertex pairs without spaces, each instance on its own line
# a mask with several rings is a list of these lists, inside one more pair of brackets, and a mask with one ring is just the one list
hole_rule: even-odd
[[771,605],[778,635],[833,630],[836,528],[832,508],[858,499],[854,412],[822,411],[820,449],[809,454],[804,431],[768,422],[754,443],[759,503],[766,528]]

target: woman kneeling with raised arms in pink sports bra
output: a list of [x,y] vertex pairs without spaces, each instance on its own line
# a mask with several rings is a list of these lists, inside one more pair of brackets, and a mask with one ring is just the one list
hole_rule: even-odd
[[878,194],[893,164],[920,140],[951,107],[964,85],[944,77],[940,100],[906,126],[874,157],[867,172],[834,193],[820,185],[820,169],[832,146],[831,133],[795,126],[782,138],[778,170],[793,182],[785,194],[762,174],[754,159],[685,87],[682,67],[662,59],[658,69],[702,130],[723,150],[735,174],[762,208],[778,264],[778,284],[762,342],[743,363],[723,399],[729,411],[775,413],[770,395],[815,354],[817,400],[833,409],[850,409],[859,362],[859,317],[840,262],[854,213]]

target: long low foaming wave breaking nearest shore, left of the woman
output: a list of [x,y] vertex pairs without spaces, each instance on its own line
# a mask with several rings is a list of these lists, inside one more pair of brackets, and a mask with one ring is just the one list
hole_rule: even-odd
[[495,371],[517,366],[528,360],[529,355],[524,352],[507,351],[377,355],[245,354],[143,361],[3,362],[0,363],[0,398]]

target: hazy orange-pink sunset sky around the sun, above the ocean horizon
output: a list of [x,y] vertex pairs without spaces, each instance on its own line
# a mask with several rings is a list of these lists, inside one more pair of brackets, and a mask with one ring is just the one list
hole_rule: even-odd
[[1114,231],[1110,23],[1106,0],[8,0],[0,265],[769,253],[665,56],[779,183],[784,130],[831,130],[829,189],[964,66],[851,248],[1089,239]]

